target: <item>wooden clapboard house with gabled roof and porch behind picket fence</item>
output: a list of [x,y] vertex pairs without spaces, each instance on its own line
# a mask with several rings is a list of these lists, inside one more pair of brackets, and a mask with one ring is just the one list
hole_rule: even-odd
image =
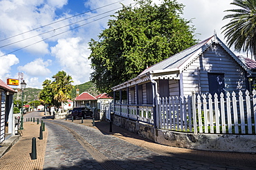
[[219,95],[246,89],[251,92],[255,66],[255,61],[236,56],[215,34],[113,87],[114,94],[120,95],[115,105],[127,105],[129,110],[151,107],[147,109],[153,113],[156,95],[191,96],[192,91]]

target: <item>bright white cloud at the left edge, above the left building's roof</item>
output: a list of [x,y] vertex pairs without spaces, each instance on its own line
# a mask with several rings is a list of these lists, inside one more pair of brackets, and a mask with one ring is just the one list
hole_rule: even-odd
[[17,65],[19,63],[19,59],[14,54],[9,54],[6,56],[2,56],[3,53],[0,51],[0,79],[5,79],[8,76],[11,76],[10,70],[12,65]]

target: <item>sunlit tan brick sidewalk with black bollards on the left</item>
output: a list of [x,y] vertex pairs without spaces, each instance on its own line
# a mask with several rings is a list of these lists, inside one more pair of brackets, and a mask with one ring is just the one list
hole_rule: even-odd
[[[24,122],[23,136],[13,145],[7,153],[0,158],[1,170],[10,169],[43,169],[44,153],[48,131],[43,131],[43,140],[39,140],[40,124]],[[17,136],[16,136],[17,137]],[[37,159],[31,160],[32,138],[36,138]],[[12,145],[11,139],[6,140],[6,144]],[[7,149],[7,146],[6,146]]]

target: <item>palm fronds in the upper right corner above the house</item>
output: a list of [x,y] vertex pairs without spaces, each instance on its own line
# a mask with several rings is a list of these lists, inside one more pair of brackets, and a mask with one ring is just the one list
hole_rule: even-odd
[[[234,0],[232,5],[239,9],[226,10],[234,12],[227,14],[223,19],[230,19],[230,22],[223,26],[224,38],[228,46],[234,45],[237,52],[251,53],[256,59],[256,0]],[[221,29],[222,29],[221,28]]]

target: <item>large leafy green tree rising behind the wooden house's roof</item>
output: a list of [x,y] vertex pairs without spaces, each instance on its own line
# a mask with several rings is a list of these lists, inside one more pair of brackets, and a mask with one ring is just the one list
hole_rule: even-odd
[[123,6],[109,20],[109,28],[91,39],[91,80],[100,92],[140,74],[145,68],[194,45],[194,28],[181,18],[183,5],[164,0],[137,1]]

